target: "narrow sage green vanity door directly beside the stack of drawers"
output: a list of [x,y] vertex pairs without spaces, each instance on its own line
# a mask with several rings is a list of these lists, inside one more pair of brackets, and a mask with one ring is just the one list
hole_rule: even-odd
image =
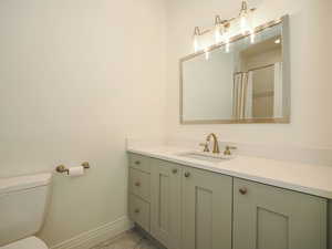
[[152,235],[168,249],[180,245],[181,167],[152,159]]

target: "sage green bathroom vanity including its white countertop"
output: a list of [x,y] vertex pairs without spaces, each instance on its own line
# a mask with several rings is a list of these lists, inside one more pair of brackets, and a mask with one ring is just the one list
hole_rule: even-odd
[[128,152],[129,217],[169,249],[326,249],[330,167]]

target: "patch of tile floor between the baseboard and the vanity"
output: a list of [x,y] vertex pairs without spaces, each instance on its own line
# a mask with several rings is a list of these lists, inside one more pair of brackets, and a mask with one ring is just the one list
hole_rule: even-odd
[[91,249],[159,249],[151,240],[136,231],[124,232]]

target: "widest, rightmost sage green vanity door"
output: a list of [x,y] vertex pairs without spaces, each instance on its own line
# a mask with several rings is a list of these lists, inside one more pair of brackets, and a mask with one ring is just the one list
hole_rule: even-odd
[[326,200],[235,179],[234,249],[326,249]]

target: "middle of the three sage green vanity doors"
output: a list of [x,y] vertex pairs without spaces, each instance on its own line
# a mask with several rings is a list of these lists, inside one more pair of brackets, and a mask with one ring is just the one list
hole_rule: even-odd
[[231,249],[232,178],[184,168],[183,249]]

